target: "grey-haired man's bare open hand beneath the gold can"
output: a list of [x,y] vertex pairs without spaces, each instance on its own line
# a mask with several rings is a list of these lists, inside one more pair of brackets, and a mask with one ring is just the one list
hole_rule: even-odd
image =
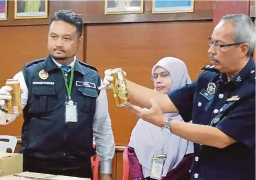
[[152,107],[150,109],[143,109],[136,105],[127,105],[126,107],[141,119],[155,124],[156,126],[162,127],[165,125],[166,119],[163,116],[161,108],[153,99],[151,99],[151,105]]

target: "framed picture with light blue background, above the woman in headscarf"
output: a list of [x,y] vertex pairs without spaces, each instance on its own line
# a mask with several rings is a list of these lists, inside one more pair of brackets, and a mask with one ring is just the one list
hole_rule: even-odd
[[194,12],[194,0],[152,0],[152,13],[189,12]]

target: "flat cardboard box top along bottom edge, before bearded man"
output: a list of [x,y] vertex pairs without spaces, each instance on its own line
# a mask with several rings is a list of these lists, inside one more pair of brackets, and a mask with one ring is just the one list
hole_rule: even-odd
[[0,180],[90,180],[86,178],[67,177],[63,175],[41,174],[35,172],[22,172],[19,174],[1,177]]

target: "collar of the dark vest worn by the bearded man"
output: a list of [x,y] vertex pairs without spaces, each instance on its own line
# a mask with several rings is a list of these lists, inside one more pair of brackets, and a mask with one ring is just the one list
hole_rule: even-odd
[[[71,67],[74,67],[74,71],[80,72],[83,75],[86,75],[86,71],[83,70],[81,67],[81,64],[79,63],[79,60],[77,60],[76,56],[74,56],[74,61],[69,64]],[[50,55],[47,56],[45,60],[44,69],[45,71],[49,72],[53,69],[58,69],[62,65],[59,64],[57,61],[55,61]]]

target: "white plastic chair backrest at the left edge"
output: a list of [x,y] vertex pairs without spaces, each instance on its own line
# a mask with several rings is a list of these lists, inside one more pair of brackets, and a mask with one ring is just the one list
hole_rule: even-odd
[[7,149],[12,149],[12,153],[17,145],[17,138],[10,135],[0,135],[0,152],[6,152]]

